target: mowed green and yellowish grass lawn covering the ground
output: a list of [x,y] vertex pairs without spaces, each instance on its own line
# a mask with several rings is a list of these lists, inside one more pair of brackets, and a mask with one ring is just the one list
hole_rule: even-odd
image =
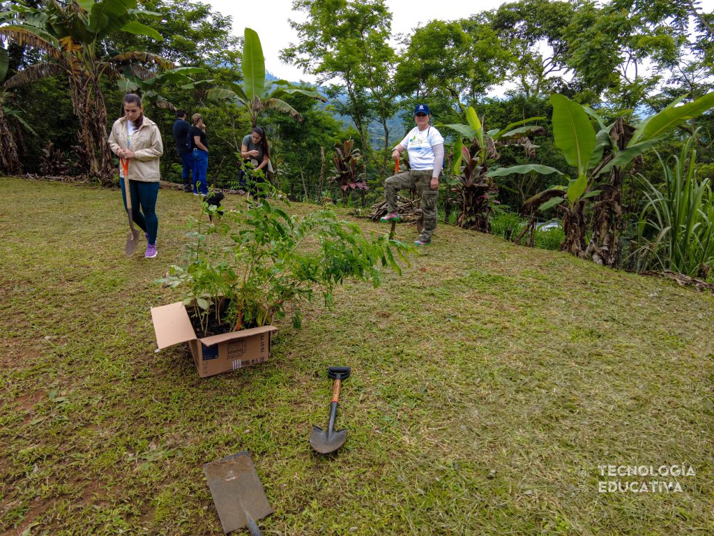
[[[149,260],[124,257],[116,189],[2,178],[0,199],[4,534],[219,535],[201,465],[241,450],[265,535],[714,534],[711,294],[440,225],[401,277],[346,284],[279,322],[268,362],[200,379],[185,345],[154,352],[149,313],[179,299],[153,281],[196,197],[161,190]],[[329,365],[352,367],[348,432],[320,457]]]

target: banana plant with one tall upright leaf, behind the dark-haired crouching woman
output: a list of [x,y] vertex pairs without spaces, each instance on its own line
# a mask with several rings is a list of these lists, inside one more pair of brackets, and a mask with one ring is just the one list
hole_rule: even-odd
[[246,28],[243,35],[243,56],[241,59],[243,84],[228,82],[223,87],[209,89],[208,99],[233,101],[237,106],[245,106],[251,115],[253,126],[258,124],[258,117],[264,109],[289,114],[293,119],[302,121],[300,113],[281,97],[291,94],[303,94],[325,102],[327,99],[317,91],[294,87],[286,80],[266,80],[265,56],[261,40],[255,30]]

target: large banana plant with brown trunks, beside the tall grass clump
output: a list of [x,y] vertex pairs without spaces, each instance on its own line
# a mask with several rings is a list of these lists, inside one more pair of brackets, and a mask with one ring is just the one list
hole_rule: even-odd
[[[535,194],[526,200],[521,212],[526,214],[535,209],[545,211],[560,206],[565,232],[561,249],[578,257],[590,258],[598,264],[613,266],[617,259],[617,235],[623,214],[620,199],[625,167],[655,147],[675,126],[714,107],[714,91],[677,106],[682,99],[673,101],[636,126],[630,126],[622,119],[605,125],[587,106],[570,101],[563,95],[551,95],[555,146],[563,152],[568,164],[576,169],[577,176],[570,178],[548,167],[530,169],[538,173],[557,172],[567,184]],[[597,131],[590,118],[597,124]],[[588,228],[585,212],[590,201],[596,203],[590,218],[593,222],[590,243],[586,245]]]

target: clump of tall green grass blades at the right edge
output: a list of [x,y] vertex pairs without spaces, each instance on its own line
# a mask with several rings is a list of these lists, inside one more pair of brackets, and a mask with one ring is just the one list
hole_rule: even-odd
[[696,172],[696,136],[672,157],[671,167],[657,154],[665,179],[660,187],[640,176],[647,203],[638,242],[645,267],[708,277],[714,265],[714,195],[710,179],[699,179]]

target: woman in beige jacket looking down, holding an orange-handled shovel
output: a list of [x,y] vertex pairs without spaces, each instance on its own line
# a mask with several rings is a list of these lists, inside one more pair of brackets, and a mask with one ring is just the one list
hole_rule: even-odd
[[124,106],[124,117],[114,121],[109,134],[109,147],[124,161],[119,170],[124,209],[124,180],[128,173],[131,217],[144,229],[147,242],[144,257],[151,259],[156,257],[156,234],[159,231],[156,197],[159,195],[159,159],[164,154],[164,144],[159,127],[144,116],[139,95],[126,94],[121,104]]

